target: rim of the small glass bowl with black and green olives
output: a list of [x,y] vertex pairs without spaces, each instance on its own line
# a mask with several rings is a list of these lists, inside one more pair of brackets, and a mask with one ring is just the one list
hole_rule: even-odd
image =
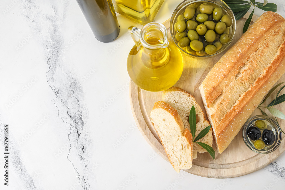
[[[265,119],[265,120],[270,120],[271,122],[273,122],[276,126],[275,130],[276,130],[276,143],[274,146],[272,146],[271,149],[269,150],[266,150],[266,151],[262,151],[262,150],[258,150],[258,149],[255,149],[249,142],[249,139],[247,138],[247,128],[249,127],[249,123],[252,122],[254,119]],[[251,150],[253,150],[254,152],[258,153],[258,154],[268,154],[268,153],[271,153],[273,151],[275,151],[281,144],[281,141],[282,141],[282,132],[281,132],[281,128],[279,126],[279,124],[274,120],[272,119],[271,117],[268,117],[268,116],[265,116],[265,115],[256,115],[256,116],[253,116],[251,118],[249,118],[245,124],[243,125],[243,142],[245,142],[245,144],[247,145],[247,147]]]

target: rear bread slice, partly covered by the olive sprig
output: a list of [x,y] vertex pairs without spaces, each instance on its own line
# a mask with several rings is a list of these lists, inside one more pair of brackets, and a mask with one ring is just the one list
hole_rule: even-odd
[[[178,88],[178,87],[171,87],[170,89],[167,89],[162,92],[162,100],[168,104],[170,104],[174,109],[177,110],[178,114],[180,115],[184,127],[190,129],[189,124],[189,113],[190,109],[194,105],[195,111],[196,111],[196,132],[195,137],[207,126],[209,126],[209,122],[206,120],[205,115],[199,106],[199,104],[196,102],[195,98],[185,90]],[[209,132],[198,142],[203,142],[205,144],[208,144],[209,146],[212,146],[213,144],[213,132],[212,128],[209,130]],[[193,159],[197,158],[197,152],[203,153],[207,152],[203,147],[201,147],[199,144],[194,143],[193,144]]]

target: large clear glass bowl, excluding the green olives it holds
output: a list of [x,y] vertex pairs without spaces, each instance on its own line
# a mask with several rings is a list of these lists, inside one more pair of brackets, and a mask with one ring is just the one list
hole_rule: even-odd
[[[206,54],[204,56],[198,56],[198,55],[190,54],[190,53],[186,52],[186,50],[184,50],[183,48],[180,48],[178,46],[178,42],[176,42],[176,39],[175,39],[175,33],[176,32],[174,30],[174,24],[176,23],[177,17],[179,15],[181,15],[182,12],[185,11],[185,9],[188,5],[193,4],[193,3],[200,3],[200,2],[213,3],[213,4],[217,5],[217,7],[220,7],[221,9],[223,9],[233,19],[233,24],[230,26],[231,27],[231,29],[230,29],[230,35],[231,35],[230,41],[227,44],[223,45],[222,48],[213,55]],[[180,49],[180,51],[182,53],[184,53],[187,56],[194,57],[194,58],[213,57],[213,56],[216,56],[217,54],[220,54],[221,52],[223,52],[233,41],[233,38],[235,36],[236,27],[237,27],[237,23],[236,23],[235,15],[233,14],[233,11],[229,8],[229,6],[225,2],[220,1],[220,0],[196,0],[196,1],[195,0],[185,0],[182,3],[180,3],[178,5],[178,7],[176,7],[176,9],[174,10],[174,12],[172,14],[171,20],[170,20],[170,34],[171,34],[171,37],[172,37],[175,45],[177,46],[177,48]]]

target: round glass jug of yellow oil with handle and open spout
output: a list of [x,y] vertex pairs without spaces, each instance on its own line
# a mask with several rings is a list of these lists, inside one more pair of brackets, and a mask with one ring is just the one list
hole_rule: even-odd
[[162,91],[172,87],[183,71],[183,58],[174,43],[167,40],[166,27],[148,23],[141,30],[129,27],[135,46],[127,59],[132,81],[147,91]]

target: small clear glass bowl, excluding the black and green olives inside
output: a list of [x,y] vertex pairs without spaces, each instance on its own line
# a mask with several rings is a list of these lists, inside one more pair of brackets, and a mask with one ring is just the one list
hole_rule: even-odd
[[[273,133],[275,134],[275,142],[272,145],[266,146],[263,149],[256,149],[253,145],[253,140],[251,140],[248,136],[247,136],[247,129],[251,126],[255,126],[255,121],[256,120],[263,120],[264,122],[266,122],[267,124],[267,128],[269,130],[272,130]],[[260,129],[262,131],[262,129]],[[261,136],[262,137],[262,136]],[[259,154],[268,154],[270,152],[273,152],[274,150],[276,150],[279,145],[281,144],[281,140],[282,140],[282,133],[281,133],[281,128],[280,126],[276,123],[276,121],[274,121],[273,119],[271,119],[268,116],[265,115],[257,115],[254,116],[250,119],[248,119],[245,124],[243,125],[243,140],[245,142],[245,144],[254,152],[259,153]]]

